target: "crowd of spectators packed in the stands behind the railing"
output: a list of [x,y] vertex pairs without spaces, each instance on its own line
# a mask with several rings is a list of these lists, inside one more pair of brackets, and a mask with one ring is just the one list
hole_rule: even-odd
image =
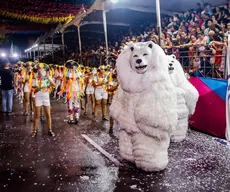
[[[130,28],[128,33],[117,36],[117,41],[109,43],[109,63],[115,63],[116,57],[127,43],[149,40],[158,43],[160,38],[166,54],[176,55],[186,70],[199,69],[206,75],[210,73],[210,69],[214,69],[216,75],[222,75],[230,31],[230,0],[220,7],[197,3],[196,9],[173,17],[164,16],[161,23],[160,34],[154,23],[145,22],[139,28]],[[56,60],[61,62],[63,58],[75,59],[88,66],[97,66],[105,63],[106,48],[103,40],[97,40],[84,46],[82,55],[79,52],[56,55]]]

